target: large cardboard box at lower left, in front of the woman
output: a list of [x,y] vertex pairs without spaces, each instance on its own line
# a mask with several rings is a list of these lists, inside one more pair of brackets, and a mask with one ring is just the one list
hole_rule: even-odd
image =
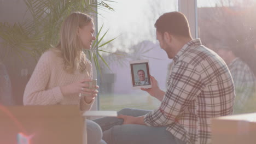
[[76,105],[0,106],[1,144],[82,144],[83,130]]

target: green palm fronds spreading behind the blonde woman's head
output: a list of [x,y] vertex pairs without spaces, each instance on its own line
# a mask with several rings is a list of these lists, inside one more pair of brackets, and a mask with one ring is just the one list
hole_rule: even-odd
[[[3,39],[3,50],[0,53],[0,60],[2,61],[10,55],[24,59],[25,57],[22,54],[24,52],[37,59],[51,45],[57,44],[60,25],[65,17],[73,11],[97,14],[96,8],[113,10],[109,5],[113,1],[108,0],[96,2],[95,0],[24,0],[24,2],[30,12],[27,14],[32,16],[31,21],[16,22],[14,24],[0,22],[0,37]],[[111,39],[106,43],[100,44],[107,32],[101,38],[99,38],[99,34],[100,32],[97,34],[98,40],[95,40],[92,51],[86,52],[90,59],[93,56],[97,68],[100,68],[96,56],[99,55],[98,47],[102,47],[114,40]],[[104,59],[102,60],[107,64]]]

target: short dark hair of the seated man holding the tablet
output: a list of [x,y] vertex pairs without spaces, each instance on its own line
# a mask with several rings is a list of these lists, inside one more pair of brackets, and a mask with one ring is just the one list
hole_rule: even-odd
[[155,22],[155,28],[162,34],[168,32],[181,37],[191,37],[188,20],[178,11],[161,15]]

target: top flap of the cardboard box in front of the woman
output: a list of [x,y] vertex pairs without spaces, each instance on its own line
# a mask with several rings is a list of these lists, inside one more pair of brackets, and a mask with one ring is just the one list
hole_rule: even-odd
[[28,105],[2,106],[0,118],[7,115],[16,117],[80,117],[78,105]]

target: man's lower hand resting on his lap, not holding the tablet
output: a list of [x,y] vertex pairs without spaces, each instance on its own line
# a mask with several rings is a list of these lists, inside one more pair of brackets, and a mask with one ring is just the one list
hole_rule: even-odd
[[118,115],[118,118],[124,119],[123,124],[141,124],[141,125],[145,125],[144,116],[133,117],[133,116],[126,116],[126,115]]

